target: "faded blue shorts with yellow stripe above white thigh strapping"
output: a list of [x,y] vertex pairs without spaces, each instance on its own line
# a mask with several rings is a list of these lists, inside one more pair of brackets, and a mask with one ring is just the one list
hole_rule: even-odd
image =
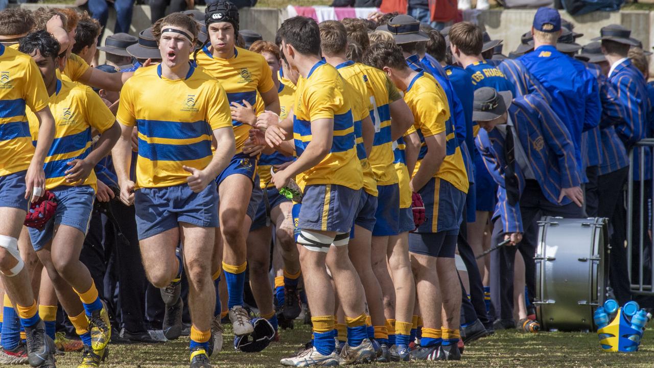
[[361,191],[363,189],[354,190],[336,184],[307,185],[302,196],[296,229],[350,232]]

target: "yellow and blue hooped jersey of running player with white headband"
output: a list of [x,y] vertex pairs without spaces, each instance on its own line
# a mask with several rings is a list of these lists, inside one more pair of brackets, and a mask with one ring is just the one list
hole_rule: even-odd
[[185,79],[175,81],[162,77],[161,65],[139,68],[120,92],[116,118],[139,128],[136,185],[141,188],[186,183],[190,173],[182,166],[207,167],[213,130],[232,126],[225,90],[193,65]]

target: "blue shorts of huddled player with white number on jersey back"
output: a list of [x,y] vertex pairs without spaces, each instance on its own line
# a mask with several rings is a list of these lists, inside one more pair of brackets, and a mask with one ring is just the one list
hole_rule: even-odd
[[[377,212],[372,236],[390,236],[400,234],[400,185],[377,185]],[[411,213],[413,223],[413,213]],[[411,229],[413,230],[413,229]]]

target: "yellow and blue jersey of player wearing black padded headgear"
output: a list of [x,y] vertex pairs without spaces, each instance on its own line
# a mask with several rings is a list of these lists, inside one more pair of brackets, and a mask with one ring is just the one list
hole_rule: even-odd
[[[229,103],[248,101],[256,107],[256,114],[263,113],[263,103],[257,104],[257,92],[266,93],[275,87],[270,67],[261,54],[235,47],[234,56],[229,59],[214,58],[209,45],[204,46],[196,56],[196,63],[204,72],[222,84]],[[236,154],[243,151],[243,143],[249,137],[250,126],[232,120],[236,139]]]

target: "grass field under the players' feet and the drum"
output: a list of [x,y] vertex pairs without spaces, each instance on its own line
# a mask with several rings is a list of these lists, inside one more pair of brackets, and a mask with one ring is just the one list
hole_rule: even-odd
[[[224,350],[212,357],[214,367],[280,366],[279,359],[292,355],[309,339],[309,328],[296,325],[281,332],[280,342],[273,342],[257,354],[235,352],[232,335],[226,326]],[[165,344],[111,345],[103,367],[188,367],[188,338]],[[59,368],[77,367],[80,353],[58,356]],[[647,367],[654,362],[654,332],[645,331],[640,351],[630,354],[603,352],[594,333],[538,333],[500,331],[491,337],[466,346],[461,361],[375,364],[378,367]],[[7,366],[6,366],[7,367]],[[17,365],[15,367],[26,367]]]

